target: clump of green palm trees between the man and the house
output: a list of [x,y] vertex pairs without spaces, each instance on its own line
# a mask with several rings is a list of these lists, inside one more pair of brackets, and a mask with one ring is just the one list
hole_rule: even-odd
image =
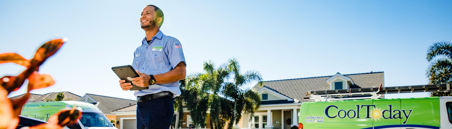
[[[240,66],[235,59],[217,69],[212,61],[207,61],[203,68],[205,73],[192,74],[186,78],[188,95],[185,103],[196,127],[204,127],[208,117],[211,129],[222,129],[228,121],[227,127],[231,128],[234,120],[236,123],[240,120],[240,112],[253,114],[259,108],[259,94],[254,90],[242,89],[244,84],[262,80],[258,72],[240,74]],[[230,78],[233,82],[229,82]],[[240,112],[233,113],[234,107]],[[210,113],[207,114],[207,111]],[[236,119],[234,114],[238,116]]]

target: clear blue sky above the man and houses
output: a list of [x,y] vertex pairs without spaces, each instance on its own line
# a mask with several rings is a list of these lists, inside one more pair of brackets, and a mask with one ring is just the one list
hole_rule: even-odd
[[[254,69],[266,81],[383,71],[386,87],[421,85],[428,83],[428,46],[452,41],[447,0],[5,0],[0,1],[0,52],[31,58],[44,41],[67,37],[40,68],[55,85],[32,93],[134,99],[132,91],[119,88],[111,67],[131,65],[145,36],[140,13],[149,4],[165,14],[162,32],[181,41],[188,74],[202,72],[203,61],[221,65],[235,57],[243,72]],[[1,64],[0,76],[23,70]]]

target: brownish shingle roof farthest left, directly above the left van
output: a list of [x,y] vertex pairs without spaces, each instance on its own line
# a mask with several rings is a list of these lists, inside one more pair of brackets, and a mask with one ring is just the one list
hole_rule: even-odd
[[[56,95],[60,92],[50,92],[47,94],[39,95],[39,94],[30,94],[30,97],[28,97],[28,101],[45,101],[47,99],[54,100],[56,98]],[[72,101],[77,101],[81,97],[73,94],[71,92],[62,92],[64,94],[64,99],[69,99]],[[25,94],[21,94],[19,96],[11,97],[11,99],[19,99],[21,97],[24,97]]]

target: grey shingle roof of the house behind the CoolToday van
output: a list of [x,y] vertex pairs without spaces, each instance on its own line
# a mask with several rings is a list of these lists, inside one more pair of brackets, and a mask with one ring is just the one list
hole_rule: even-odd
[[[382,84],[381,87],[385,86],[384,72],[344,74],[344,76],[352,79],[354,85],[350,86],[350,88],[378,88],[380,84]],[[304,99],[304,97],[309,97],[306,96],[306,92],[329,90],[330,84],[326,83],[326,79],[330,77],[332,76],[265,81],[264,86],[301,102],[314,101],[312,99]],[[253,88],[256,90],[260,89],[259,84],[256,84]],[[380,98],[384,98],[384,94]]]

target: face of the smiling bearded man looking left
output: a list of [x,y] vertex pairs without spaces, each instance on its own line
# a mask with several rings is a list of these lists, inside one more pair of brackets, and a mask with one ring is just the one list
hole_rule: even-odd
[[154,7],[152,6],[146,6],[143,11],[141,12],[140,17],[140,23],[141,28],[154,28],[157,24],[156,22],[156,15],[154,11]]

